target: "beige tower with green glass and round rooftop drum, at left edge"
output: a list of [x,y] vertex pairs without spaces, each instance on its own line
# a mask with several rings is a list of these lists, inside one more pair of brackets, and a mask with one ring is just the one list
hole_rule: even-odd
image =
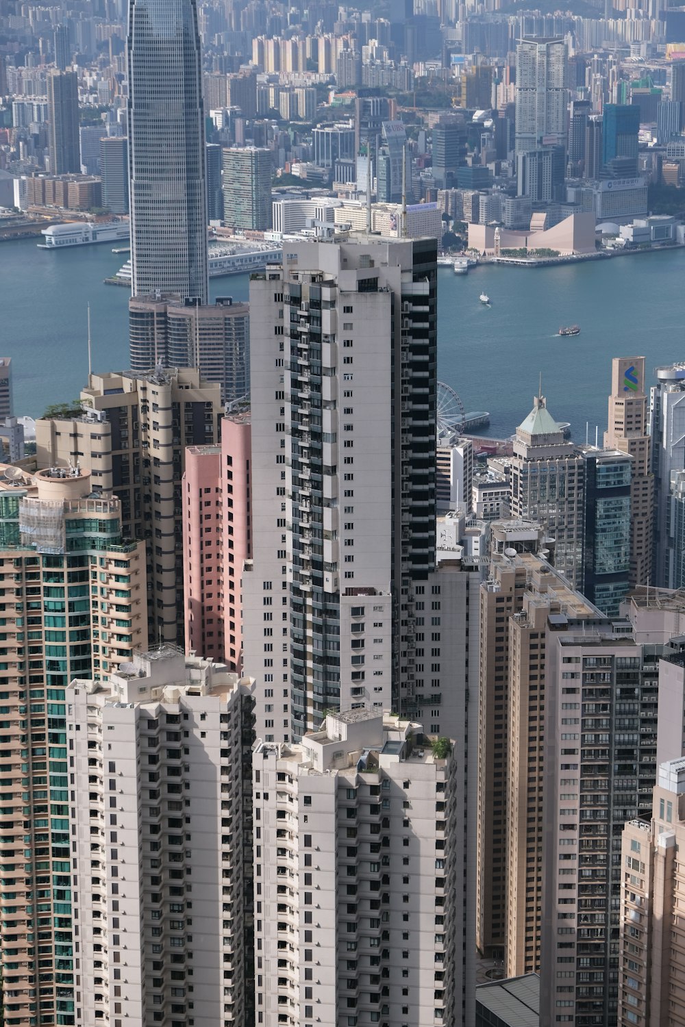
[[145,546],[122,538],[119,502],[87,472],[7,468],[1,482],[4,1017],[74,1024],[65,689],[147,645]]

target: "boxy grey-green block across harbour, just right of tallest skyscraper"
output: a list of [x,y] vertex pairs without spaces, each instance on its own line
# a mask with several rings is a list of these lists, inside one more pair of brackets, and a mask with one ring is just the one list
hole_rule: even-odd
[[266,232],[271,228],[271,151],[224,150],[224,224]]

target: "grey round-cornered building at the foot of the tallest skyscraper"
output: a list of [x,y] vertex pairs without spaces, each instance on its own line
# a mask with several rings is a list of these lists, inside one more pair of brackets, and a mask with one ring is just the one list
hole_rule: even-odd
[[134,296],[128,303],[130,367],[196,368],[218,382],[223,403],[250,392],[250,307],[219,297],[194,304],[180,296]]

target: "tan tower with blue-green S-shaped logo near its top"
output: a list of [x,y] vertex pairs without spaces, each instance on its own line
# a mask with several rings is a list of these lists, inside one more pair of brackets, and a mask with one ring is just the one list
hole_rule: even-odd
[[611,362],[608,425],[604,445],[633,457],[630,583],[635,587],[647,584],[652,571],[654,478],[649,466],[644,356],[617,356]]

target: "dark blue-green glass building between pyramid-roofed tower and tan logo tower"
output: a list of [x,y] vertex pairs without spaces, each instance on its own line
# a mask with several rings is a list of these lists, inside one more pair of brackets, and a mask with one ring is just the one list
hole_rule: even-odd
[[631,579],[631,541],[637,520],[631,501],[635,457],[619,450],[588,449],[583,451],[583,461],[581,592],[607,616],[617,617]]

